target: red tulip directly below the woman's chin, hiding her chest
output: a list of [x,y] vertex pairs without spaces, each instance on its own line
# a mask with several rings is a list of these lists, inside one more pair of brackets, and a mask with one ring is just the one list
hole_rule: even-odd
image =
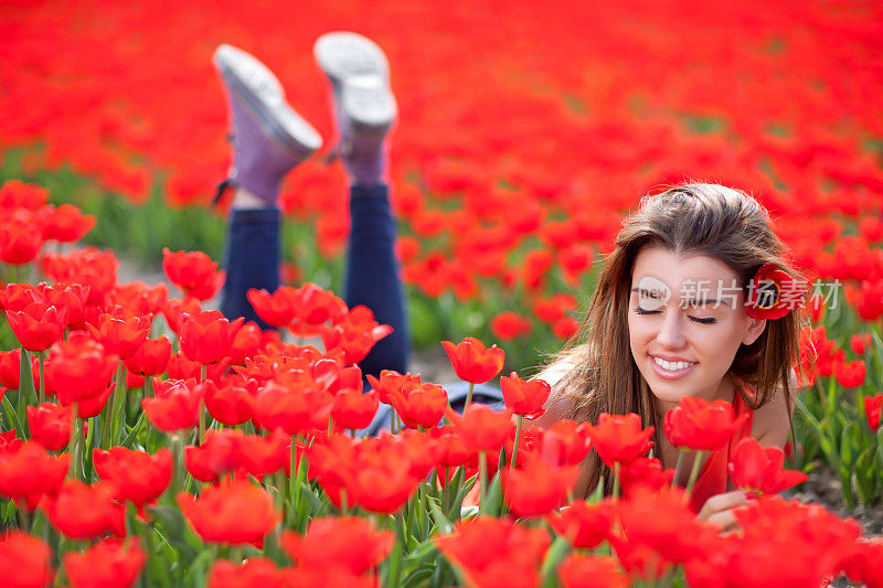
[[666,414],[666,437],[674,447],[715,451],[724,447],[748,415],[733,417],[733,405],[726,400],[709,402],[684,396]]

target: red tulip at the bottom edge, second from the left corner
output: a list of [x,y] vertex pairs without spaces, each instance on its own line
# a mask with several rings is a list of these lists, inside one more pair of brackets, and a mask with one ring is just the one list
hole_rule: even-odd
[[147,554],[132,539],[103,541],[82,554],[68,552],[62,559],[72,588],[135,586],[146,560]]

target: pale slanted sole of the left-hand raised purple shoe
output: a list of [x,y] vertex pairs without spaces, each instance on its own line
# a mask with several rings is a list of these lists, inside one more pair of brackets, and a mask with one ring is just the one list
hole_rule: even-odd
[[212,62],[231,98],[242,100],[267,136],[302,159],[322,146],[319,132],[286,104],[281,84],[256,57],[223,44]]

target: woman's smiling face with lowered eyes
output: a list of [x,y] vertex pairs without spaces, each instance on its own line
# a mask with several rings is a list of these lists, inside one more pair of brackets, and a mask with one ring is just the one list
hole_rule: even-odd
[[766,327],[723,261],[645,247],[635,258],[628,308],[631,355],[664,410],[683,396],[732,399],[724,377],[740,345]]

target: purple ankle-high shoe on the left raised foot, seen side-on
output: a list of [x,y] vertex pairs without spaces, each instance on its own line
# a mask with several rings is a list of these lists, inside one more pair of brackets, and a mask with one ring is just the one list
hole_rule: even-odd
[[285,101],[273,73],[251,54],[231,45],[212,57],[226,89],[232,118],[233,163],[223,186],[241,186],[275,206],[288,171],[309,158],[322,138]]

